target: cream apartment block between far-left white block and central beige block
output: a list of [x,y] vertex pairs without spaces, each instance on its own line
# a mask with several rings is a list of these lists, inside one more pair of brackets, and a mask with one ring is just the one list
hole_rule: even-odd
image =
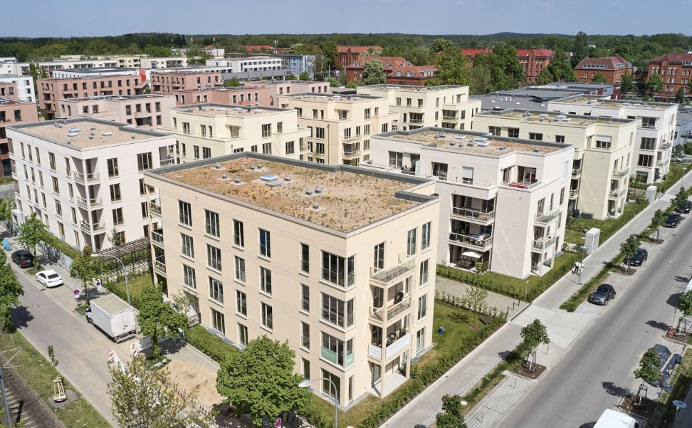
[[293,109],[279,107],[194,104],[171,109],[172,124],[161,131],[176,137],[178,162],[251,151],[302,159],[310,154]]

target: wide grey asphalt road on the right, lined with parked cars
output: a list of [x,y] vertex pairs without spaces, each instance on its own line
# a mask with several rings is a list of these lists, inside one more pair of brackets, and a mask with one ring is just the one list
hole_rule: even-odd
[[[691,275],[691,232],[692,216],[498,427],[592,427],[626,389],[638,387],[632,371],[647,348],[663,342],[677,295]],[[654,393],[649,388],[649,396]]]

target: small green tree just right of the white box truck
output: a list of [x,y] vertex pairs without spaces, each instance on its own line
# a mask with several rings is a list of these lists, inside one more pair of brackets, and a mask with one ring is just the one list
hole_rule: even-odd
[[149,286],[142,290],[137,322],[142,328],[142,334],[152,338],[152,351],[155,358],[161,357],[161,346],[158,346],[159,337],[165,337],[166,333],[177,335],[179,328],[183,331],[188,328],[187,315],[178,313],[172,302],[163,300],[160,285]]

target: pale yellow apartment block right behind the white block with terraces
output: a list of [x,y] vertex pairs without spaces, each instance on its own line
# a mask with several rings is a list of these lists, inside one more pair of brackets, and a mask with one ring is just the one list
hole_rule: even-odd
[[622,213],[637,132],[635,120],[507,109],[477,114],[473,129],[493,136],[574,145],[569,212],[599,220]]

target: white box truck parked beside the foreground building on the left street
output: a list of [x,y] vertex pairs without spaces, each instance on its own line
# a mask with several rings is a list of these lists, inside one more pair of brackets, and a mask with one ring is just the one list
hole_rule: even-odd
[[93,299],[85,315],[87,321],[97,326],[114,342],[134,337],[137,330],[134,308],[113,293]]

